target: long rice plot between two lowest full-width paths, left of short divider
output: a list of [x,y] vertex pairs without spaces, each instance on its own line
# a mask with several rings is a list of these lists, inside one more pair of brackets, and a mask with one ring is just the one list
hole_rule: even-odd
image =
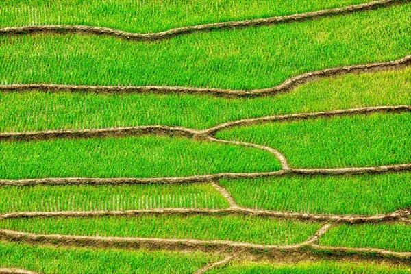
[[29,218],[0,221],[3,229],[38,234],[234,240],[292,245],[307,240],[320,223],[251,216],[157,215],[138,217]]

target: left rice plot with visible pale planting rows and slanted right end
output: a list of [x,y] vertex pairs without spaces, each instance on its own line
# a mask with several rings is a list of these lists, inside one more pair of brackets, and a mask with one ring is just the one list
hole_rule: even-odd
[[0,212],[227,208],[209,184],[121,186],[4,186]]

